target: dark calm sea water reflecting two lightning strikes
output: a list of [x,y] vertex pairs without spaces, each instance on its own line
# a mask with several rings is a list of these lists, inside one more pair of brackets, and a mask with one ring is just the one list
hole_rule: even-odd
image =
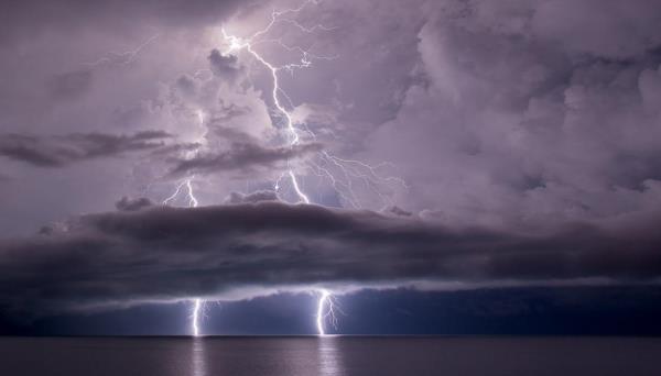
[[0,339],[0,375],[661,375],[661,339]]

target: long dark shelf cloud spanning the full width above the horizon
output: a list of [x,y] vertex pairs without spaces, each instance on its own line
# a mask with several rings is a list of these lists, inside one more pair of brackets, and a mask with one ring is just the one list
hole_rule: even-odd
[[525,236],[272,201],[195,209],[145,203],[2,241],[0,302],[41,311],[316,283],[661,277],[661,236],[649,225],[659,212]]

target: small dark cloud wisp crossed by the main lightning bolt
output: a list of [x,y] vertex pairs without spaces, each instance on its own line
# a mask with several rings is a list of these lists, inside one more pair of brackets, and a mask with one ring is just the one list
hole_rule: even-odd
[[180,159],[172,168],[172,175],[247,170],[270,167],[278,163],[318,152],[321,144],[307,143],[294,146],[268,147],[254,143],[232,143],[228,151],[201,153],[192,158]]

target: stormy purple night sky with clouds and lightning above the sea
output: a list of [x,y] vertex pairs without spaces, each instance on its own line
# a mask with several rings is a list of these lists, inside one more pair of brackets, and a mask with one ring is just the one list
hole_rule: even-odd
[[659,25],[2,1],[0,334],[659,335]]

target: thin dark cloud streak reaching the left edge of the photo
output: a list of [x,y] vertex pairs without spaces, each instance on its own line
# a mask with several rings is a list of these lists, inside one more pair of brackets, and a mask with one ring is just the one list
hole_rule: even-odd
[[63,167],[76,162],[117,156],[163,146],[170,134],[143,131],[132,135],[74,133],[57,136],[0,135],[0,156],[37,167]]

